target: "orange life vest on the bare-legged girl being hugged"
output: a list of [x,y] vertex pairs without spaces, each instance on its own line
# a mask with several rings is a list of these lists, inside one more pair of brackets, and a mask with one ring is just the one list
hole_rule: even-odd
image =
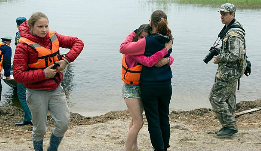
[[126,63],[126,55],[123,54],[122,58],[122,77],[121,79],[126,84],[139,84],[140,83],[140,77],[142,72],[142,65],[136,65],[132,68],[129,68]]

